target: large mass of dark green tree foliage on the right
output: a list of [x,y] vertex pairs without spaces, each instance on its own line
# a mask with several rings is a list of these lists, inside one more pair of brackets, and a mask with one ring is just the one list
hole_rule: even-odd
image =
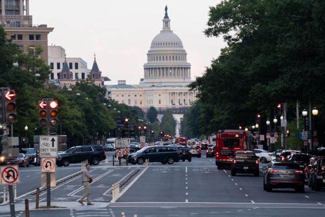
[[[324,11],[321,0],[232,0],[211,7],[205,34],[223,36],[228,46],[190,84],[211,114],[200,127],[251,126],[257,113],[265,123],[282,102],[293,119],[297,100],[323,111]],[[323,112],[318,118],[324,119]]]

